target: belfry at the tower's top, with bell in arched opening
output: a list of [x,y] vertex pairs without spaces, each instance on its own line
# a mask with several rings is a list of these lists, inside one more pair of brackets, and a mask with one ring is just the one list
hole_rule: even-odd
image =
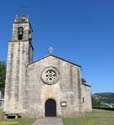
[[16,17],[13,23],[12,41],[29,41],[32,40],[32,27],[26,16]]

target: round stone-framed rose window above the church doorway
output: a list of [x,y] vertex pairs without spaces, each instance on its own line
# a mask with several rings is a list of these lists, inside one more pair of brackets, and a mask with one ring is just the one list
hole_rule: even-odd
[[58,81],[59,73],[54,67],[47,67],[42,72],[42,80],[47,84],[54,84]]

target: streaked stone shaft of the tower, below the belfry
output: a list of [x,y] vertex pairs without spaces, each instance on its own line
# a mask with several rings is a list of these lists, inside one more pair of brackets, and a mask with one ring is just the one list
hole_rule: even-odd
[[5,83],[5,112],[17,113],[23,110],[22,97],[24,96],[26,83],[26,66],[30,62],[29,48],[29,42],[9,42]]

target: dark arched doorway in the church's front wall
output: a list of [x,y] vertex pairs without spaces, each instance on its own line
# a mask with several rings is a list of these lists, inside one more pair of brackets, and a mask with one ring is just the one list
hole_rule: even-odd
[[56,102],[53,99],[48,99],[45,102],[45,116],[55,117],[56,116]]

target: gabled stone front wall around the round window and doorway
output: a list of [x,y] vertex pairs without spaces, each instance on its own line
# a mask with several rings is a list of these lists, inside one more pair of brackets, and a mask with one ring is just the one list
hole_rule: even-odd
[[[46,67],[55,67],[59,72],[59,80],[53,85],[42,81],[41,74]],[[27,67],[27,82],[25,85],[25,112],[45,116],[45,102],[52,98],[57,104],[58,116],[70,116],[73,112],[80,112],[81,96],[78,70],[80,67],[72,65],[53,56],[48,56]],[[66,107],[61,107],[66,102]]]

